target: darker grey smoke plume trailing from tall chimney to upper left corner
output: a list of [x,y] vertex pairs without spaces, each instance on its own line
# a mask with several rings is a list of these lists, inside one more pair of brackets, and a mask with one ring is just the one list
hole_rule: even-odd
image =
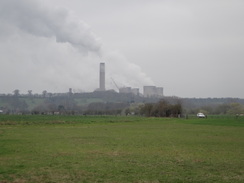
[[29,34],[55,37],[83,53],[99,52],[101,44],[89,26],[66,9],[48,9],[31,0],[1,0],[0,17]]

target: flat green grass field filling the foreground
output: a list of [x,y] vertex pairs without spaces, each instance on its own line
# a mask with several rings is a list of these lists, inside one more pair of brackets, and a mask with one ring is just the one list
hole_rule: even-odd
[[244,182],[244,118],[0,115],[0,182]]

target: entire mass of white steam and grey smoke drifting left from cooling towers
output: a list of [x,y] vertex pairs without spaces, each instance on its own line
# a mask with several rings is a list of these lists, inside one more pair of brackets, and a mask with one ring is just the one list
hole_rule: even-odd
[[0,93],[93,90],[98,87],[100,58],[107,80],[114,77],[132,87],[152,84],[139,66],[104,51],[90,27],[72,12],[38,1],[0,1],[0,50]]

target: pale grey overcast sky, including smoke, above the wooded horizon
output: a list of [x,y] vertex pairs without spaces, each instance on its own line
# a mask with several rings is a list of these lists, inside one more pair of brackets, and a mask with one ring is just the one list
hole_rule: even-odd
[[0,93],[244,98],[243,0],[0,0]]

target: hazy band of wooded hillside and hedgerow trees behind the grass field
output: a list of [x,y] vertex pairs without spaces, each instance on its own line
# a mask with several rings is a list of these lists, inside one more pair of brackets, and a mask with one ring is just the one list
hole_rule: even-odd
[[90,114],[178,117],[203,112],[207,115],[244,114],[244,99],[238,98],[145,98],[116,92],[50,94],[40,96],[0,95],[1,114]]

